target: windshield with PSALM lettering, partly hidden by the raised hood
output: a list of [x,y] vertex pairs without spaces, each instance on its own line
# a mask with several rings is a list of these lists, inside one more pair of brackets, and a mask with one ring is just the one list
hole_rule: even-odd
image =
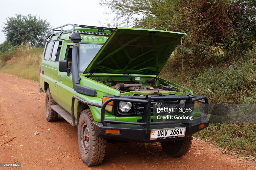
[[80,71],[84,72],[84,70],[88,67],[92,59],[99,52],[100,48],[103,44],[80,44],[80,58],[79,58],[79,67]]

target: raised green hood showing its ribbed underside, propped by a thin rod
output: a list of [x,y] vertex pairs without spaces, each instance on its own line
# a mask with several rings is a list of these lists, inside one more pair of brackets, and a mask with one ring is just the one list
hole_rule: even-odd
[[116,28],[84,73],[158,75],[185,33]]

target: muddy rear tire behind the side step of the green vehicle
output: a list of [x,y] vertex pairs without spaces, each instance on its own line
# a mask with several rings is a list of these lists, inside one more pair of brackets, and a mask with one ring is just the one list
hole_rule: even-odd
[[51,106],[57,104],[51,97],[50,88],[47,88],[45,94],[45,117],[48,122],[54,122],[58,118],[58,113],[56,113]]

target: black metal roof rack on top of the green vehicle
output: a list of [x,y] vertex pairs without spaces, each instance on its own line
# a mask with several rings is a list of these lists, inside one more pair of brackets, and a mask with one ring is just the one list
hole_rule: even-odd
[[[73,26],[72,30],[68,29],[68,30],[63,30],[63,27],[66,26]],[[79,30],[75,30],[75,27],[78,28],[90,28],[90,29],[98,29],[98,32],[92,32],[92,31],[79,31]],[[85,34],[85,35],[96,35],[96,36],[110,36],[110,34],[114,31],[114,28],[107,28],[107,27],[94,27],[94,26],[88,26],[88,25],[78,25],[78,24],[65,24],[62,25],[60,27],[56,27],[56,28],[52,28],[50,29],[52,31],[52,33],[50,35],[47,36],[46,41],[48,38],[51,39],[52,36],[57,35],[58,34],[58,40],[60,38],[60,35],[63,32],[77,32],[79,34]],[[111,33],[104,33],[104,30],[108,30],[111,31]],[[58,31],[58,32],[55,32]]]

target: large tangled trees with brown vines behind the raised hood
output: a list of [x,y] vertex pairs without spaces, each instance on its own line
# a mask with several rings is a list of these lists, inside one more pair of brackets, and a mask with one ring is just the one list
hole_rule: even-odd
[[254,0],[101,0],[101,4],[116,13],[113,23],[187,33],[183,54],[189,65],[234,59],[255,45]]

